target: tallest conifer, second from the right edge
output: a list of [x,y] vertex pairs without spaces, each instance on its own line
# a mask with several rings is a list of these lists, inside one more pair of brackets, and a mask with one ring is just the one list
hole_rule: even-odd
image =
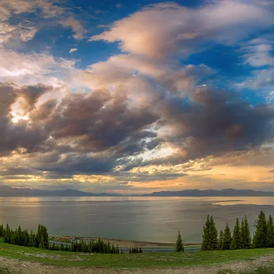
[[255,227],[256,227],[256,232],[253,236],[253,247],[264,248],[266,247],[267,223],[266,223],[266,217],[263,211],[260,212],[258,219],[255,223]]

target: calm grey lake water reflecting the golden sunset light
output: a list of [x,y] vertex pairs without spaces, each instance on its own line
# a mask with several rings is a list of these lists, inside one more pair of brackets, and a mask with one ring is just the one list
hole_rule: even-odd
[[274,197],[0,197],[0,223],[12,227],[154,242],[174,242],[178,230],[185,242],[201,242],[207,214],[219,229],[247,214],[253,232],[260,210],[274,215]]

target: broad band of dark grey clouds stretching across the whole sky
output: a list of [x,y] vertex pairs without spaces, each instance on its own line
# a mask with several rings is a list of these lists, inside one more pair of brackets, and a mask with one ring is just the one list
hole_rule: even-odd
[[[273,106],[252,106],[236,92],[214,87],[199,87],[187,98],[170,93],[155,95],[153,105],[147,101],[135,106],[130,94],[119,90],[71,93],[60,100],[49,96],[40,101],[50,92],[54,92],[51,87],[41,85],[1,85],[1,153],[17,151],[28,159],[25,166],[20,160],[13,168],[7,166],[1,175],[111,175],[117,166],[130,171],[147,164],[178,164],[249,151],[274,136]],[[29,120],[13,123],[11,105],[18,98],[28,102],[23,110]],[[153,127],[156,130],[151,130]],[[159,129],[164,127],[171,128],[172,134],[160,134]],[[143,152],[166,144],[177,151],[166,158],[143,158]],[[166,177],[171,179],[173,175],[169,175]],[[145,177],[138,179],[153,180]]]

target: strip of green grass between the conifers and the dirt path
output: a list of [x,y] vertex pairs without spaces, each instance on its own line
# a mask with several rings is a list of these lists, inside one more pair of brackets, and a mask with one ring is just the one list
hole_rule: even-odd
[[[90,254],[49,251],[19,247],[0,242],[0,256],[62,266],[104,267],[116,269],[164,268],[209,265],[238,260],[253,260],[258,256],[274,255],[274,249],[237,251],[197,251],[186,253]],[[1,273],[1,272],[0,272]],[[253,274],[253,273],[252,273]],[[260,273],[261,274],[261,273]]]

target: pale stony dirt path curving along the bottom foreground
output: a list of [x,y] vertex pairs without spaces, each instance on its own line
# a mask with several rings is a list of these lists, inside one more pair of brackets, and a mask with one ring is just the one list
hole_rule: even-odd
[[110,269],[81,269],[79,267],[64,267],[44,265],[37,262],[22,262],[19,260],[0,257],[0,266],[8,268],[11,273],[23,274],[217,274],[220,270],[231,269],[234,271],[256,269],[258,266],[274,262],[274,256],[263,256],[253,261],[231,262],[227,264],[215,264],[211,266],[184,267],[181,269],[136,269],[136,270],[110,270]]

